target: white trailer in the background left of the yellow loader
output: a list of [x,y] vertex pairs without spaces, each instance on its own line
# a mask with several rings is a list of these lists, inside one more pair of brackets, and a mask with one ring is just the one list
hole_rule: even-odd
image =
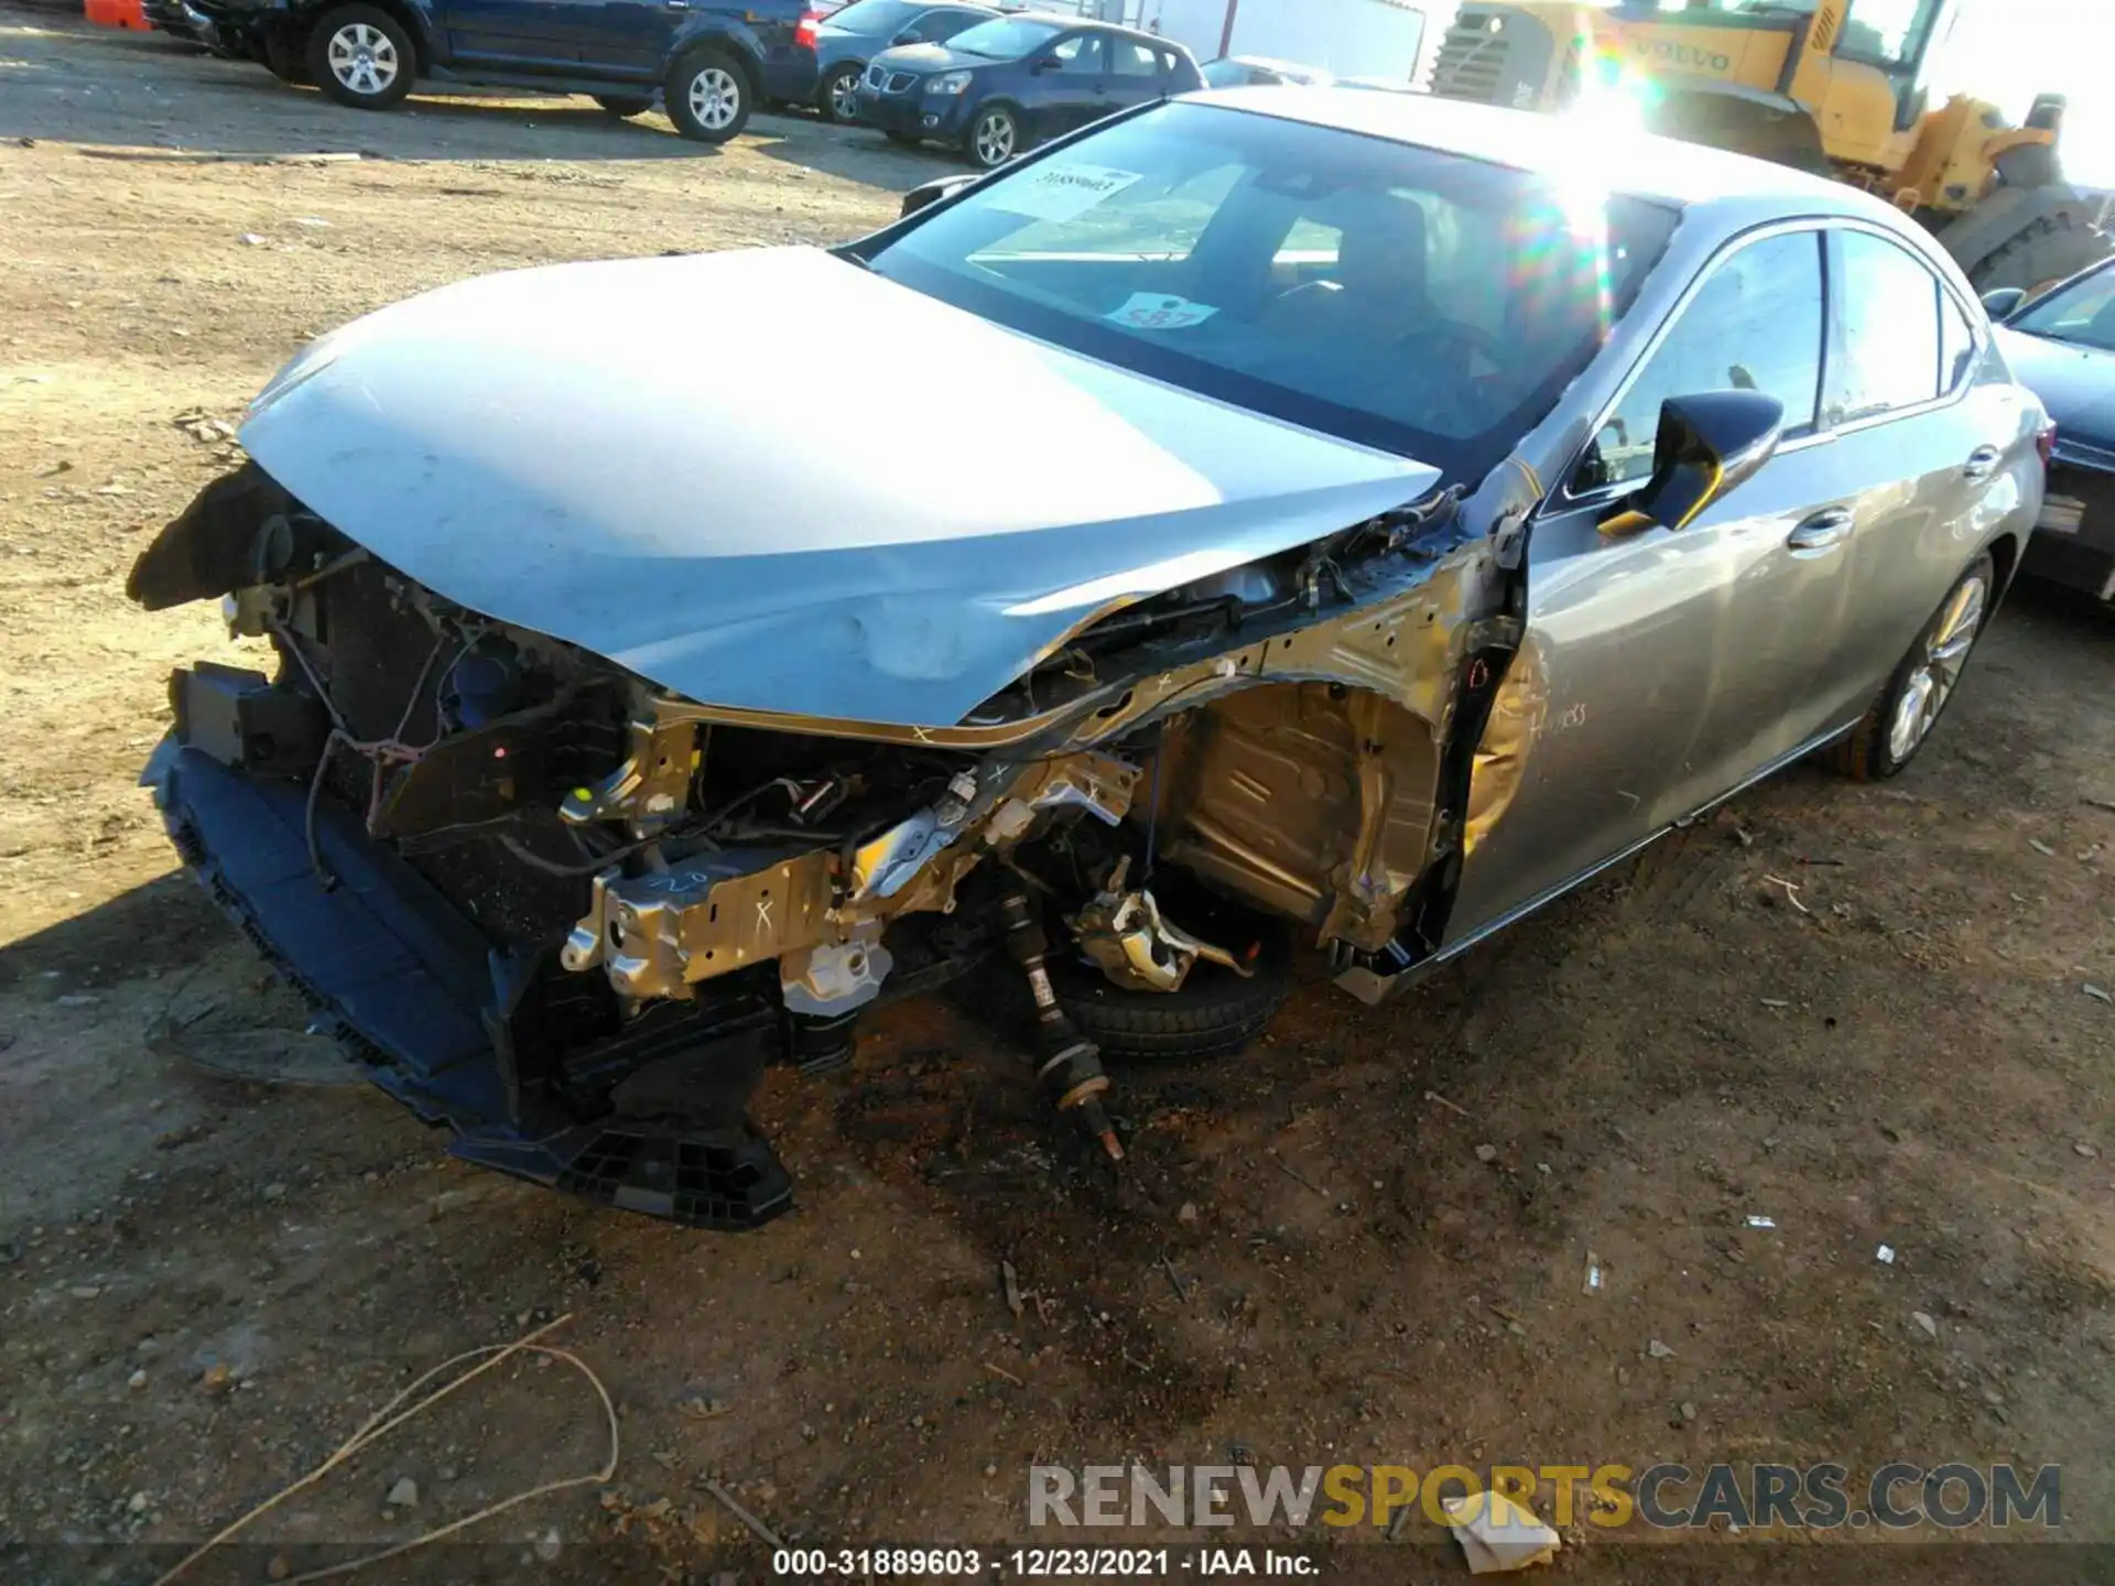
[[1199,61],[1261,55],[1402,87],[1417,80],[1426,40],[1426,13],[1402,0],[1068,0],[1034,8],[1074,6],[1172,38]]

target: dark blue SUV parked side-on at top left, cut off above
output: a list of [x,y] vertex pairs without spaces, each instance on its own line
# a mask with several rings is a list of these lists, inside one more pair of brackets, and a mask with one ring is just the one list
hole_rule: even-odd
[[224,47],[338,104],[385,110],[415,80],[586,93],[613,116],[662,93],[685,137],[723,144],[757,99],[814,87],[810,0],[192,0]]

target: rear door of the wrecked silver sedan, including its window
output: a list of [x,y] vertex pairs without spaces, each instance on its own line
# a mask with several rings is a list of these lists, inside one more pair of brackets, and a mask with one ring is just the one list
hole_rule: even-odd
[[1851,497],[1851,613],[1838,713],[1863,715],[1969,565],[1988,527],[2020,508],[2030,442],[2024,393],[1978,381],[1988,330],[1904,241],[1829,233],[1832,353],[1823,398]]

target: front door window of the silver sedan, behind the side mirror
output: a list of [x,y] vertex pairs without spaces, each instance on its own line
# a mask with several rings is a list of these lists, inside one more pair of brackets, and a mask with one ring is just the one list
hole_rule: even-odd
[[1652,474],[1660,404],[1669,398],[1762,391],[1785,404],[1787,436],[1810,431],[1821,345],[1819,230],[1764,237],[1719,256],[1601,425],[1571,488]]

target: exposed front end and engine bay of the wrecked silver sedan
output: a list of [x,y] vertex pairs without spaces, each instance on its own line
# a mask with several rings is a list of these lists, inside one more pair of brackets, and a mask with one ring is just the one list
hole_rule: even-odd
[[222,598],[273,672],[180,668],[146,780],[459,1155],[755,1227],[791,1199],[744,1112],[761,1068],[840,1066],[876,1002],[979,971],[1121,1157],[1100,1057],[1140,1007],[1227,988],[1233,1047],[1292,935],[1368,1000],[1440,945],[1519,639],[1502,533],[1468,518],[1438,493],[1112,601],[964,721],[897,727],[670,694],[450,603],[247,465],[129,592]]

